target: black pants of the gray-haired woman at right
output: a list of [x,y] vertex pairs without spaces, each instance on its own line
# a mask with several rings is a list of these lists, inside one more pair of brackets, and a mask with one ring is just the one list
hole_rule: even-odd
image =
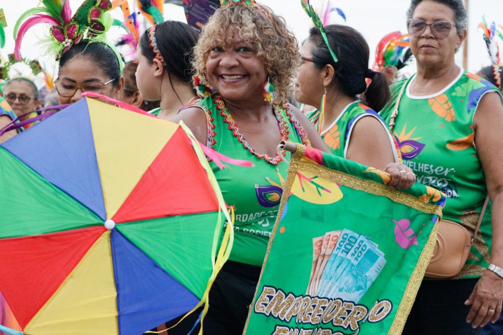
[[425,280],[421,284],[403,335],[480,334],[466,323],[471,306],[464,302],[478,279]]

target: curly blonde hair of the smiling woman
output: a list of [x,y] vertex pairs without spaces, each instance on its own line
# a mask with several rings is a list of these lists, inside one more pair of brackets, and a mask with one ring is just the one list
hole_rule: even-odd
[[261,5],[260,10],[236,5],[219,8],[204,26],[194,47],[195,75],[203,76],[204,84],[210,86],[206,80],[206,60],[214,47],[232,45],[232,37],[227,33],[229,28],[236,28],[239,37],[253,45],[257,57],[264,62],[276,93],[273,103],[280,106],[287,103],[300,65],[297,39],[288,30],[285,19],[266,6]]

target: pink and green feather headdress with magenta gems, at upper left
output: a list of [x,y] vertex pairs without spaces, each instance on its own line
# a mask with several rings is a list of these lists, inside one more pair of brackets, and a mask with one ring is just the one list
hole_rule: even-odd
[[46,23],[49,29],[48,53],[54,53],[56,60],[72,45],[84,38],[95,39],[112,25],[107,11],[112,9],[111,0],[85,0],[72,16],[69,0],[42,0],[43,6],[29,9],[21,15],[14,27],[16,45],[14,54],[21,59],[21,42],[26,32],[33,26]]

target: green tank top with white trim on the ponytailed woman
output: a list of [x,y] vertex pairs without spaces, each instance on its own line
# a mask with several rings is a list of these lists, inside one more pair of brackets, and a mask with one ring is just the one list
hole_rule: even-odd
[[[319,119],[319,111],[316,110],[306,116],[311,123],[316,124]],[[394,161],[400,161],[398,148],[388,130],[388,125],[379,114],[377,114],[372,108],[362,104],[360,101],[355,101],[347,105],[341,114],[339,114],[337,119],[321,132],[321,138],[323,138],[326,145],[328,145],[334,155],[346,158],[353,128],[355,127],[357,121],[366,116],[374,117],[381,123],[383,128],[388,133],[389,145],[393,151]]]

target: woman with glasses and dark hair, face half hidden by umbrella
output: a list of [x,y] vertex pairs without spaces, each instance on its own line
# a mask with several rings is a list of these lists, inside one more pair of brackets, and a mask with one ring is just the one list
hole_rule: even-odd
[[124,87],[121,61],[106,43],[82,40],[73,45],[59,58],[59,74],[54,81],[59,103],[72,104],[82,99],[82,92],[118,99]]

